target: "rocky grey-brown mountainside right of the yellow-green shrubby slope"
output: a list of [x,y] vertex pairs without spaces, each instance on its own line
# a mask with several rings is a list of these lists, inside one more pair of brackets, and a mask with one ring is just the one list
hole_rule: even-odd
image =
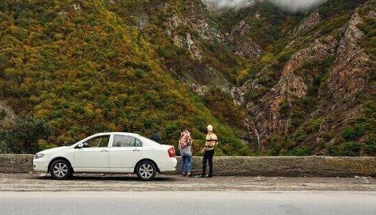
[[[243,137],[251,148],[275,155],[327,155],[332,145],[342,153],[350,143],[359,143],[354,146],[359,155],[375,153],[364,146],[374,144],[373,130],[353,139],[343,133],[364,116],[365,103],[374,96],[369,88],[375,66],[370,55],[375,53],[363,47],[373,36],[359,28],[372,25],[374,6],[375,1],[329,1],[302,15],[257,1],[222,9],[213,18],[205,6],[191,3],[165,22],[165,30],[175,46],[202,65],[200,72],[179,73],[182,82],[201,96],[212,88],[230,92],[246,112]],[[230,47],[227,58],[237,60],[232,78],[205,61],[207,44]],[[218,52],[211,58],[220,67],[229,66]]]

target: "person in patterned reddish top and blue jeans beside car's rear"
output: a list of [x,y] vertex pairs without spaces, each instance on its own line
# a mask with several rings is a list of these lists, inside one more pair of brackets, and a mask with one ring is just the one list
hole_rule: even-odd
[[183,176],[190,177],[192,171],[192,138],[188,129],[184,129],[182,134],[180,134],[179,149],[180,155],[182,155],[180,173]]

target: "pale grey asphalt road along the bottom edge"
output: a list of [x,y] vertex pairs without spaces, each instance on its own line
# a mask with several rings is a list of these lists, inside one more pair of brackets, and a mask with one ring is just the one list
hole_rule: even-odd
[[1,192],[1,214],[376,214],[376,192]]

